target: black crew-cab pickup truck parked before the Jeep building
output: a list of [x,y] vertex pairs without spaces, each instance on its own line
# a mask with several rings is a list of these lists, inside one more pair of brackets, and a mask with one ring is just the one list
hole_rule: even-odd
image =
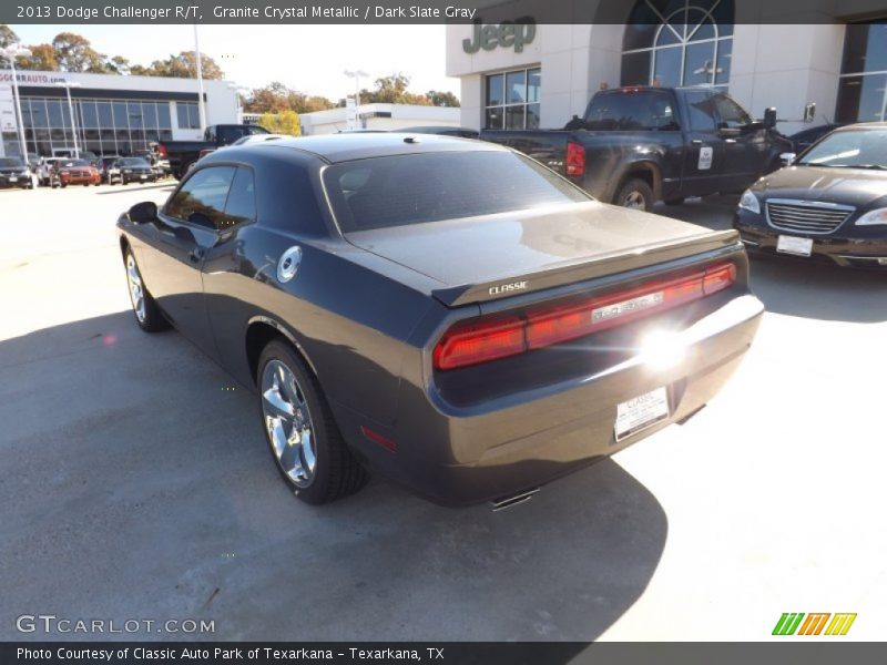
[[598,92],[564,130],[485,130],[565,175],[599,201],[650,211],[686,196],[741,192],[782,165],[792,142],[776,113],[755,121],[713,88],[632,86]]

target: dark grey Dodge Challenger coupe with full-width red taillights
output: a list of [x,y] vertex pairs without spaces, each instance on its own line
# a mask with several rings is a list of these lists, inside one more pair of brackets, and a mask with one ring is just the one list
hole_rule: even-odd
[[517,501],[701,409],[763,313],[734,231],[446,136],[218,151],[118,227],[137,324],[255,389],[309,503],[368,470],[439,503]]

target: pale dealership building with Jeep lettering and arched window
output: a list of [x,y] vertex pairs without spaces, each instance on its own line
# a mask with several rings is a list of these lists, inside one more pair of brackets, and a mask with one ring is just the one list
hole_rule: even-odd
[[883,2],[809,0],[795,23],[751,14],[753,4],[767,11],[738,0],[588,0],[582,7],[598,7],[606,23],[542,24],[528,14],[448,25],[461,124],[562,127],[594,92],[623,85],[713,85],[757,117],[775,106],[786,133],[801,129],[807,102],[816,123],[887,120]]

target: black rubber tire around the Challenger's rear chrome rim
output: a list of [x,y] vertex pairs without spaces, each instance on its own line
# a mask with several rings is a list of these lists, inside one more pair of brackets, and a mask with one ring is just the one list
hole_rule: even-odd
[[[274,451],[268,429],[265,427],[262,377],[265,368],[273,360],[282,362],[289,369],[307,406],[316,457],[314,473],[308,484],[299,485],[286,473]],[[317,379],[290,345],[283,339],[268,342],[258,359],[256,385],[258,386],[258,412],[263,424],[262,429],[265,432],[265,441],[277,471],[298,499],[312,505],[329,503],[354,494],[367,483],[369,474],[345,443]]]

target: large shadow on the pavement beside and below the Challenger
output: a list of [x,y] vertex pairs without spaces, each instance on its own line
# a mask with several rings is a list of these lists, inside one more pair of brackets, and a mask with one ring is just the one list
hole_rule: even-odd
[[306,507],[255,397],[129,311],[0,341],[0,422],[4,640],[44,638],[14,632],[39,610],[213,620],[202,637],[220,640],[590,641],[643,593],[667,533],[610,460],[498,513],[381,480]]

